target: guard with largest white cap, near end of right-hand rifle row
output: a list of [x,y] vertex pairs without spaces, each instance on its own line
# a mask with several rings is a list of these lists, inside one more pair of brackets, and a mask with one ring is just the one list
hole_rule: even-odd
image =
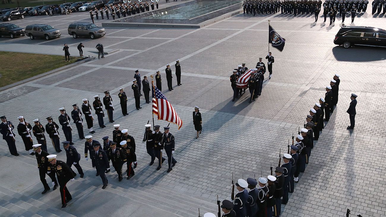
[[235,195],[234,200],[234,210],[236,212],[237,217],[245,217],[247,216],[247,209],[245,205],[248,200],[248,191],[245,189],[248,187],[247,181],[239,178],[236,182],[237,194]]

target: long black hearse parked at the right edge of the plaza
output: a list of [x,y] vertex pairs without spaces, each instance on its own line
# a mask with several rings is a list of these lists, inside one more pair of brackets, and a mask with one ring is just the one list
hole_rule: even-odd
[[368,26],[342,26],[334,44],[349,48],[354,45],[386,47],[386,30]]

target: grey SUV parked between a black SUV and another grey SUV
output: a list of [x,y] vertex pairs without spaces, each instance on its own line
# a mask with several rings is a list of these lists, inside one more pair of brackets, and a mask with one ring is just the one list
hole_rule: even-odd
[[59,29],[54,29],[51,25],[47,24],[33,24],[25,27],[25,35],[30,39],[45,38],[47,40],[60,37],[61,33]]

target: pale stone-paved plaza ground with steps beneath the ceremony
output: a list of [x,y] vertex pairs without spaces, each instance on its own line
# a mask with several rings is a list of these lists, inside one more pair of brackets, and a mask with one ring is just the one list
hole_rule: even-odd
[[[170,4],[174,4],[173,2]],[[371,5],[371,3],[369,4]],[[160,7],[167,7],[160,4]],[[367,8],[370,12],[371,8]],[[12,156],[4,140],[0,141],[0,215],[1,216],[182,216],[194,217],[205,212],[217,213],[216,196],[229,199],[231,175],[248,178],[270,175],[277,166],[279,152],[287,150],[288,139],[303,127],[308,111],[320,97],[335,73],[340,75],[339,102],[330,121],[312,150],[310,163],[295,183],[283,217],[386,216],[385,167],[386,128],[386,50],[384,48],[335,46],[334,36],[341,19],[334,25],[323,23],[323,15],[314,23],[313,15],[244,15],[239,14],[200,29],[120,29],[107,28],[100,39],[73,39],[67,34],[71,22],[90,22],[88,13],[76,12],[56,17],[27,17],[12,23],[25,27],[45,23],[62,32],[59,39],[46,41],[28,37],[0,39],[0,50],[20,51],[29,46],[37,53],[63,55],[63,44],[78,56],[76,45],[83,42],[85,56],[93,55],[97,43],[107,51],[104,59],[77,64],[63,71],[0,92],[1,115],[13,124],[24,115],[29,122],[36,118],[46,124],[46,117],[58,123],[58,108],[81,103],[83,98],[110,91],[113,98],[114,124],[129,129],[135,138],[138,167],[130,180],[118,181],[115,170],[107,174],[109,185],[102,190],[91,162],[83,155],[84,140],[78,139],[73,125],[73,142],[81,153],[80,165],[85,177],[68,183],[73,200],[60,209],[59,189],[41,195],[43,190],[36,158],[24,150],[19,135],[16,146],[20,156]],[[286,39],[283,52],[270,47],[275,62],[273,77],[266,80],[262,95],[248,103],[249,91],[232,102],[229,76],[240,63],[255,68],[258,58],[268,53],[268,20]],[[346,24],[349,25],[349,18]],[[101,26],[100,21],[96,24]],[[355,25],[386,29],[385,17],[365,13]],[[353,25],[354,25],[353,24]],[[30,52],[30,51],[27,51]],[[176,85],[174,64],[181,63],[181,86]],[[1,60],[12,61],[12,60]],[[173,91],[167,90],[165,68],[171,64]],[[267,63],[266,63],[267,64]],[[141,110],[135,109],[131,90],[134,71],[141,76],[161,71],[163,93],[183,120],[183,126],[171,124],[176,138],[173,171],[167,165],[156,170],[149,166],[150,157],[142,138],[144,125],[152,122],[151,104],[141,97]],[[266,76],[267,79],[268,76]],[[123,116],[119,105],[119,88],[128,95],[128,113]],[[142,92],[142,91],[141,91]],[[346,113],[350,94],[358,95],[356,127],[349,131]],[[195,139],[192,120],[194,106],[200,107],[203,131]],[[107,123],[106,123],[107,122]],[[163,120],[155,124],[166,126]],[[106,128],[94,120],[93,134],[99,142],[112,137],[113,124],[105,117]],[[84,129],[88,135],[87,128]],[[59,130],[63,141],[63,131]],[[48,135],[46,134],[48,139]],[[34,138],[34,142],[36,139]],[[50,141],[48,152],[56,154]],[[166,154],[165,154],[166,155]],[[65,161],[65,153],[58,159]],[[74,169],[74,168],[73,168]],[[48,179],[49,180],[49,179]],[[50,182],[49,182],[50,183]]]

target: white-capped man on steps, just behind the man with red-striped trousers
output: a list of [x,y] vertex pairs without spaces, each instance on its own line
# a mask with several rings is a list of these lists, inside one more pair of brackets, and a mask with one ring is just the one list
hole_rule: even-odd
[[52,185],[54,186],[55,190],[58,188],[58,181],[56,181],[55,178],[55,173],[51,173],[51,166],[48,163],[47,156],[49,155],[46,151],[41,149],[42,144],[36,144],[33,145],[32,147],[34,148],[35,151],[35,157],[37,161],[37,168],[39,169],[39,177],[40,181],[42,182],[44,186],[44,191],[42,194],[45,194],[48,190],[51,188],[48,186],[47,181],[46,181],[46,174],[51,178]]

